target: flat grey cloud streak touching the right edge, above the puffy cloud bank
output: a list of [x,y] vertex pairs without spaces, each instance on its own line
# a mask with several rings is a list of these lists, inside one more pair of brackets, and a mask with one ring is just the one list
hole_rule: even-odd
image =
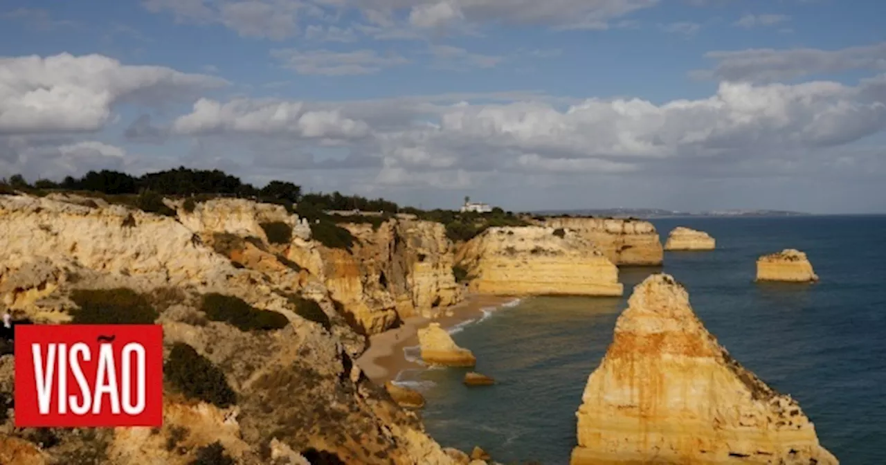
[[886,43],[840,50],[718,50],[706,53],[705,57],[716,60],[716,65],[694,71],[693,76],[725,81],[780,81],[850,70],[886,70]]

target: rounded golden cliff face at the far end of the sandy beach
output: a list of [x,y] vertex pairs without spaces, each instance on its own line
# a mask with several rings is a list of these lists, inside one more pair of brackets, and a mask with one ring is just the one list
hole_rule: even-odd
[[571,230],[490,228],[456,257],[471,291],[497,295],[620,296],[618,267]]

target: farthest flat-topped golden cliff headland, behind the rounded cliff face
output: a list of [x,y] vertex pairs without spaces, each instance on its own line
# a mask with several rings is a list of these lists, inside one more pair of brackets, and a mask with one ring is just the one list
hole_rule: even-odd
[[575,229],[616,265],[656,266],[664,260],[656,227],[649,221],[551,217],[542,226]]

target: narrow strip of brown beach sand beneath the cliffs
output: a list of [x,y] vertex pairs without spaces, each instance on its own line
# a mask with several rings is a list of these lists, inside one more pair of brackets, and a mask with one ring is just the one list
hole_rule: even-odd
[[441,315],[435,320],[422,316],[409,317],[400,328],[369,337],[369,349],[356,360],[357,366],[376,384],[385,384],[405,369],[422,368],[422,365],[407,360],[403,353],[405,347],[418,345],[418,329],[426,327],[431,321],[439,322],[444,329],[450,329],[461,322],[480,318],[484,308],[501,306],[512,300],[513,297],[472,294],[458,305],[447,309],[447,312],[452,311],[452,316]]

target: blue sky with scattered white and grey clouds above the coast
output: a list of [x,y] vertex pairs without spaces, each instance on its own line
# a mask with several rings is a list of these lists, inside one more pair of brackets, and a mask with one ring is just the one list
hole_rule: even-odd
[[0,0],[0,178],[886,213],[882,0]]

